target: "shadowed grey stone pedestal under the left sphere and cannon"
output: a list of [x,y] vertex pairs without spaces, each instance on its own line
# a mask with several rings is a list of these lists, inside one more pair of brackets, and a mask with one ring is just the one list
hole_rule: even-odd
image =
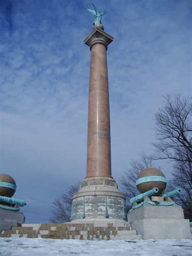
[[22,224],[25,216],[20,211],[9,211],[0,208],[0,232],[1,230],[10,230],[11,227]]

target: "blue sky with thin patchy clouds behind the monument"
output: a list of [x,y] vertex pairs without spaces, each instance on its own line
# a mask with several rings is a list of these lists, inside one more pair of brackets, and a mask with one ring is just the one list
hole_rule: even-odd
[[[27,223],[86,175],[88,0],[0,1],[0,172],[17,183]],[[162,95],[191,94],[191,2],[95,0],[114,37],[107,51],[112,175],[153,152]],[[167,177],[171,165],[162,164]],[[119,183],[120,187],[120,183]]]

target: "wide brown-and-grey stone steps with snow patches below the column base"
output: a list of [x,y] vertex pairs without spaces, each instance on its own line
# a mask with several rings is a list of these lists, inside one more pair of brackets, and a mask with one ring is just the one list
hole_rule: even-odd
[[52,239],[81,239],[81,240],[125,240],[142,239],[136,230],[131,227],[95,226],[94,224],[20,224],[11,230],[2,230],[0,237],[28,237],[28,238],[52,238]]

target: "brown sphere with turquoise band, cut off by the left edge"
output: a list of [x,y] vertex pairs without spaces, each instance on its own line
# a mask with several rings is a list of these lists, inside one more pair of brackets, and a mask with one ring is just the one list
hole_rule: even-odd
[[0,196],[11,197],[15,194],[15,180],[6,174],[0,174]]

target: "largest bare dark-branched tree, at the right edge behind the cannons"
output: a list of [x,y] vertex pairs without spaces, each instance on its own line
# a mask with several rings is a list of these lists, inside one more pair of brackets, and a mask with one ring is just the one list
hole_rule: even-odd
[[192,220],[192,104],[181,95],[165,96],[165,106],[156,113],[156,154],[153,159],[170,159],[173,178],[170,188],[181,187],[183,194],[176,201]]

